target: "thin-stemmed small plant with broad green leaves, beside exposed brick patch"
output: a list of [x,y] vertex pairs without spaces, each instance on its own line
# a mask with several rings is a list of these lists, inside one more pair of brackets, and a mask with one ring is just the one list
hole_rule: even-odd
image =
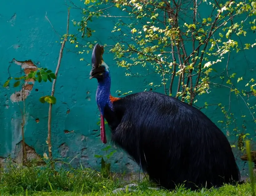
[[[26,153],[26,149],[25,149],[25,137],[24,137],[24,126],[25,126],[25,117],[26,117],[26,107],[25,107],[25,99],[26,97],[26,88],[27,85],[30,84],[31,81],[37,81],[39,83],[41,82],[47,82],[50,81],[52,82],[52,79],[55,79],[56,76],[55,74],[47,69],[47,68],[37,68],[37,70],[34,71],[30,71],[27,75],[23,75],[21,77],[9,77],[7,79],[7,81],[3,84],[3,87],[6,88],[7,86],[9,86],[10,82],[12,80],[14,80],[14,84],[13,87],[20,87],[21,88],[21,99],[20,101],[23,102],[23,107],[21,107],[19,105],[19,101],[17,100],[17,105],[20,108],[20,112],[21,112],[21,116],[22,116],[22,123],[21,123],[21,132],[22,132],[22,163],[27,162],[27,153]],[[16,99],[17,99],[17,95],[16,95]],[[55,97],[53,96],[43,96],[40,98],[40,101],[47,101],[48,103],[52,103],[54,102]]]

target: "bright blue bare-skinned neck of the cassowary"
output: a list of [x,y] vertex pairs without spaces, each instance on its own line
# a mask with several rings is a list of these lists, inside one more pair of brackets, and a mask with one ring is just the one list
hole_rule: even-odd
[[96,91],[96,101],[98,106],[100,107],[101,114],[104,116],[104,108],[108,105],[111,109],[113,109],[113,104],[110,100],[110,86],[111,79],[108,75],[101,80],[98,80],[98,87]]

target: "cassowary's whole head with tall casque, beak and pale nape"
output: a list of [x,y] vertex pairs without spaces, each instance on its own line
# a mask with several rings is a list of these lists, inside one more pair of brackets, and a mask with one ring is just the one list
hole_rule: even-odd
[[96,44],[94,46],[92,56],[91,56],[91,72],[90,79],[97,78],[98,81],[104,80],[104,78],[109,76],[109,67],[103,61],[104,48],[102,45]]

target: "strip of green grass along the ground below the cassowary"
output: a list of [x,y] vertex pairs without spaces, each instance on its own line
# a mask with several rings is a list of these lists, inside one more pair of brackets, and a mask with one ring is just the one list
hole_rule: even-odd
[[154,185],[147,180],[143,180],[138,187],[133,188],[133,192],[128,192],[126,189],[120,194],[112,194],[113,190],[123,188],[126,184],[113,177],[104,178],[99,172],[91,169],[70,167],[56,171],[49,164],[46,166],[32,164],[29,167],[9,164],[7,170],[2,169],[0,174],[1,195],[252,195],[249,183],[238,186],[225,185],[219,189],[200,191],[186,190],[181,186],[170,192],[164,189],[149,189]]

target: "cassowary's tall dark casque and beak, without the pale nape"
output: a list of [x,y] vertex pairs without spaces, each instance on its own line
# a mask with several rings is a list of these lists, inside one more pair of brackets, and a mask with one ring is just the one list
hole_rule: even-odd
[[105,68],[101,66],[103,63],[103,53],[104,53],[104,47],[102,45],[96,44],[94,46],[94,49],[92,51],[91,55],[91,72],[90,72],[90,79],[91,78],[97,78],[105,72]]

